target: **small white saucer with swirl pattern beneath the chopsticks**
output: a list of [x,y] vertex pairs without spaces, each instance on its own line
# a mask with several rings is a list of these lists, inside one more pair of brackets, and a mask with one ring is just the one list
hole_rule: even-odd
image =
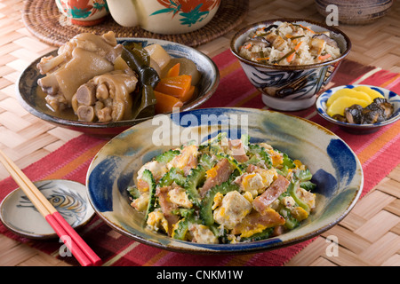
[[[94,216],[94,210],[87,201],[85,185],[62,179],[42,180],[34,184],[73,228],[86,225]],[[2,201],[0,219],[13,233],[30,239],[58,237],[20,188]]]

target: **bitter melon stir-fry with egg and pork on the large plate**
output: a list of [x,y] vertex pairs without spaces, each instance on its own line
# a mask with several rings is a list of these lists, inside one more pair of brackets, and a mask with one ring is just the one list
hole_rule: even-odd
[[294,229],[315,209],[316,185],[299,160],[226,133],[145,163],[128,187],[146,227],[197,243],[259,241]]

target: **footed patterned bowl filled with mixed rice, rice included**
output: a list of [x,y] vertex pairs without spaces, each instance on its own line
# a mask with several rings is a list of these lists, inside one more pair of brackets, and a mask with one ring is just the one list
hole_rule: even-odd
[[242,28],[230,49],[266,106],[297,111],[314,106],[316,95],[348,56],[351,42],[338,28],[284,18]]

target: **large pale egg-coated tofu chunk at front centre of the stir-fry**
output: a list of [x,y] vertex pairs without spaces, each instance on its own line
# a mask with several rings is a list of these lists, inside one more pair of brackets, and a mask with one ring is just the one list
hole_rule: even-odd
[[251,210],[252,203],[242,194],[233,191],[224,196],[221,206],[214,210],[213,216],[218,224],[233,229]]

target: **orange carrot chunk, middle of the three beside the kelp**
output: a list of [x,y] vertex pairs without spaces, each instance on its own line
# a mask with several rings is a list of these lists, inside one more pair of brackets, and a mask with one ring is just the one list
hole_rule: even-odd
[[179,75],[175,77],[162,78],[157,83],[155,91],[163,92],[178,99],[185,97],[192,83],[191,75]]

